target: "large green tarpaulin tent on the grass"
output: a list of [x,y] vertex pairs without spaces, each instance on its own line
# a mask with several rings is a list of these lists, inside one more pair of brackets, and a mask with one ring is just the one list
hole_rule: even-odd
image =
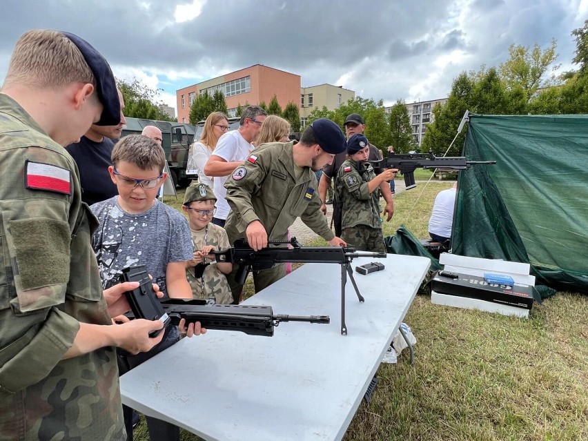
[[588,293],[588,115],[469,115],[454,254],[531,264],[537,284]]

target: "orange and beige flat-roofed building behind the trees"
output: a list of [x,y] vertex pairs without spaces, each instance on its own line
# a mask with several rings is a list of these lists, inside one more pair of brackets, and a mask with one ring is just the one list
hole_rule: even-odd
[[300,101],[300,75],[256,64],[179,89],[176,91],[177,121],[190,121],[190,106],[197,93],[208,91],[212,95],[215,90],[224,93],[229,117],[235,116],[239,104],[264,101],[269,105],[273,95],[283,109],[289,101],[296,104]]

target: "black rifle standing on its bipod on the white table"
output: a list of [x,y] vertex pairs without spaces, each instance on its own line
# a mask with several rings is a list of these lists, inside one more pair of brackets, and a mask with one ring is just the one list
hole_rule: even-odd
[[[295,237],[289,241],[270,241],[268,245],[274,245],[269,248],[263,248],[259,251],[253,251],[253,248],[244,239],[237,239],[234,246],[222,251],[211,251],[210,254],[216,256],[217,262],[231,262],[238,265],[235,280],[239,284],[244,284],[245,279],[250,271],[261,271],[271,268],[275,264],[293,262],[293,263],[318,263],[318,264],[340,264],[341,265],[341,333],[347,334],[345,325],[345,285],[347,275],[351,279],[357,299],[364,302],[364,297],[360,294],[351,261],[354,257],[386,257],[386,253],[357,252],[355,248],[340,246],[300,246]],[[287,246],[275,245],[291,245]],[[195,276],[202,277],[204,268],[208,264],[198,264],[195,266]]]

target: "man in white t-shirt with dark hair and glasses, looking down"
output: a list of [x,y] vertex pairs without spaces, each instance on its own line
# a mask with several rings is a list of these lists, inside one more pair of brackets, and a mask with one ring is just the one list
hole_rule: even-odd
[[239,128],[225,133],[219,138],[214,153],[210,155],[204,166],[204,174],[214,177],[214,192],[217,197],[215,217],[212,223],[224,227],[228,212],[231,211],[226,202],[224,183],[247,159],[253,146],[251,142],[257,137],[259,128],[267,117],[267,112],[259,106],[248,106],[243,109]]

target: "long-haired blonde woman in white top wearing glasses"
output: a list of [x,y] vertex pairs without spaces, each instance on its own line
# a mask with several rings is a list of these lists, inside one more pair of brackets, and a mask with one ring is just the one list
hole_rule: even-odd
[[228,131],[228,119],[223,112],[212,112],[204,122],[200,140],[190,146],[188,170],[196,170],[198,182],[213,188],[213,178],[204,175],[204,164],[217,146],[219,137]]

